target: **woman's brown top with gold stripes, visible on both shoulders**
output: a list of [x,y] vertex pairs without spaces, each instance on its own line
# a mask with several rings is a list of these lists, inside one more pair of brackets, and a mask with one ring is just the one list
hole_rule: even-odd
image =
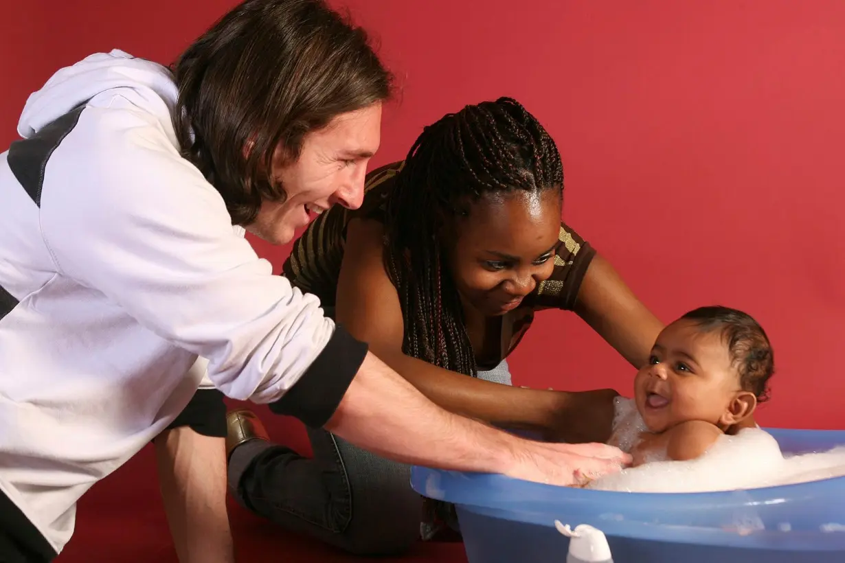
[[[315,219],[293,245],[291,256],[282,266],[283,275],[300,290],[317,295],[324,307],[335,306],[337,280],[341,273],[343,248],[346,244],[346,225],[356,217],[384,218],[384,202],[390,197],[396,175],[404,161],[384,165],[371,171],[364,184],[361,208],[347,209],[335,205]],[[537,284],[537,289],[523,301],[523,306],[511,311],[509,328],[510,349],[519,342],[540,309],[571,310],[595,251],[574,230],[560,224],[559,244],[554,256],[552,275]]]

